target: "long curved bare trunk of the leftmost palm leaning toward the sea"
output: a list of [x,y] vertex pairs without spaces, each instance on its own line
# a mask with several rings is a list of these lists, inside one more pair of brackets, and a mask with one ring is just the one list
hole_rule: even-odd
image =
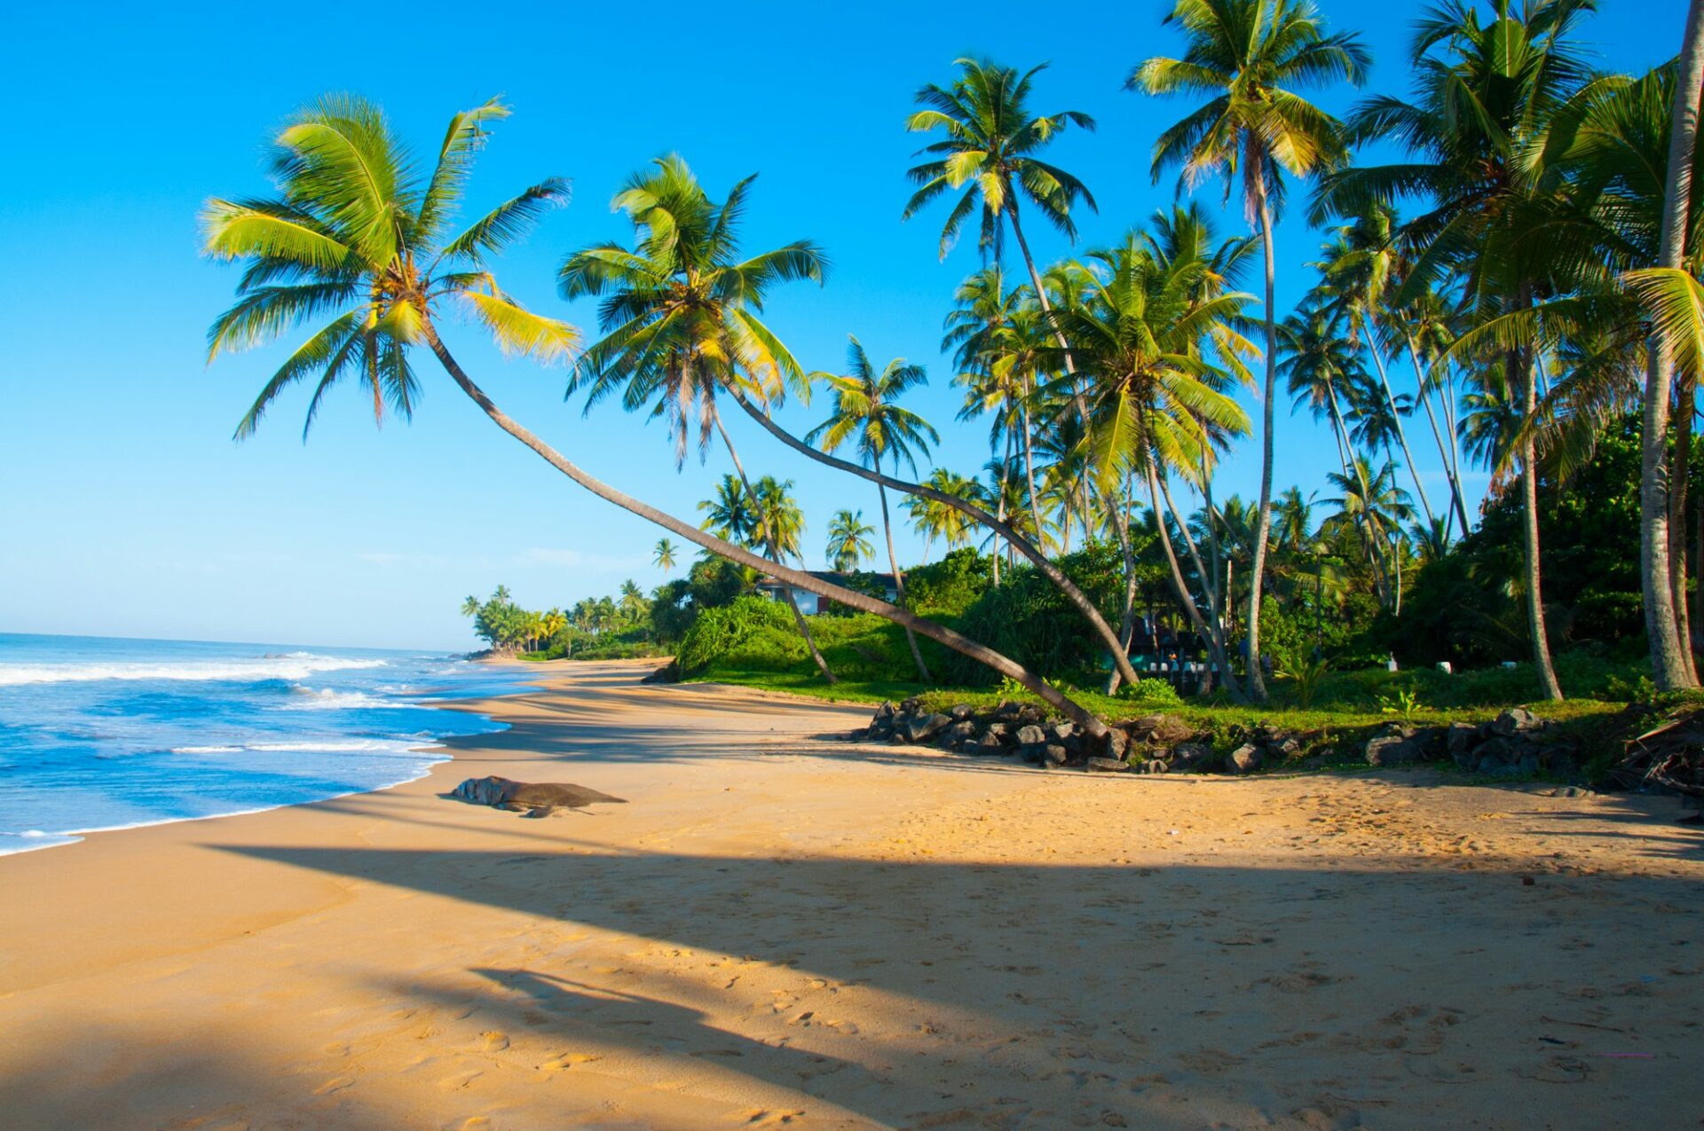
[[481,412],[491,417],[491,421],[498,428],[501,428],[509,436],[532,448],[533,453],[544,458],[545,463],[562,472],[564,475],[567,475],[576,484],[579,484],[591,494],[598,496],[605,502],[613,502],[624,511],[637,514],[646,521],[656,523],[658,526],[680,535],[687,542],[700,545],[714,554],[721,554],[722,557],[738,562],[740,566],[748,566],[750,569],[770,574],[777,581],[792,584],[799,589],[804,589],[806,593],[816,593],[818,596],[833,598],[835,601],[840,601],[849,608],[857,608],[866,613],[876,613],[878,617],[891,620],[896,625],[903,625],[907,629],[912,629],[913,632],[920,632],[930,640],[937,640],[946,647],[951,647],[954,652],[970,656],[976,663],[987,664],[1002,676],[1016,680],[1017,683],[1021,683],[1022,686],[1041,697],[1046,703],[1056,707],[1060,714],[1063,714],[1067,719],[1080,724],[1084,731],[1087,731],[1091,736],[1097,739],[1106,738],[1108,727],[1099,717],[1085,710],[1080,703],[1074,702],[1072,698],[1062,695],[1053,685],[1050,685],[1036,673],[1029,671],[1017,661],[1002,656],[1000,652],[995,652],[992,647],[978,644],[976,640],[971,640],[970,637],[961,635],[953,629],[947,629],[946,625],[937,625],[935,622],[925,620],[924,617],[918,617],[905,608],[889,605],[888,601],[876,600],[866,593],[857,593],[855,589],[845,589],[842,586],[830,584],[821,577],[813,577],[804,571],[782,566],[780,562],[770,562],[767,559],[762,559],[743,547],[736,547],[734,543],[717,538],[716,535],[705,530],[699,530],[697,526],[694,526],[685,520],[675,518],[673,514],[666,514],[656,509],[654,506],[641,502],[639,499],[634,499],[632,496],[627,496],[617,491],[615,487],[610,487],[608,484],[595,479],[593,475],[588,475],[579,467],[571,463],[567,456],[564,456],[561,451],[538,439],[538,436],[535,436],[532,431],[528,431],[515,419],[511,419],[506,412],[503,412],[503,409],[499,409],[491,400],[491,397],[487,397],[486,392],[479,385],[475,385],[474,380],[462,370],[457,359],[445,347],[443,341],[438,337],[438,330],[429,322],[426,322],[421,327],[421,337],[426,341],[433,354],[443,365],[445,371],[450,375],[450,380],[453,380],[457,387],[463,393],[467,393],[467,397],[479,405]]

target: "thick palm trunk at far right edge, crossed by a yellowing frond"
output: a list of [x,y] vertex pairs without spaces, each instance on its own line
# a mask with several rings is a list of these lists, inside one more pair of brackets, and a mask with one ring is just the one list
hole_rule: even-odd
[[[1687,5],[1685,39],[1675,77],[1675,106],[1668,135],[1668,184],[1663,208],[1661,267],[1685,261],[1692,223],[1692,153],[1697,148],[1699,97],[1704,90],[1704,0]],[[1668,347],[1655,341],[1644,382],[1644,434],[1639,460],[1639,572],[1644,577],[1644,629],[1651,640],[1656,686],[1697,686],[1689,671],[1690,640],[1682,640],[1675,610],[1668,511],[1668,404],[1675,365]],[[1685,647],[1685,652],[1682,652]]]

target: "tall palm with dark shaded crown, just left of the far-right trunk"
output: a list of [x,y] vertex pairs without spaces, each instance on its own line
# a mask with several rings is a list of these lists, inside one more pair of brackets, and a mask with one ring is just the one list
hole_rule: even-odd
[[[1518,9],[1496,0],[1489,19],[1476,5],[1435,9],[1416,26],[1414,94],[1368,99],[1350,116],[1350,140],[1399,138],[1408,160],[1348,169],[1324,179],[1315,215],[1351,215],[1370,203],[1419,198],[1421,211],[1402,227],[1414,249],[1414,267],[1397,301],[1447,274],[1462,279],[1472,322],[1486,325],[1506,315],[1530,327],[1530,312],[1544,298],[1573,290],[1588,271],[1573,247],[1564,184],[1546,160],[1547,129],[1556,112],[1590,78],[1585,53],[1573,41],[1595,0],[1530,0]],[[1534,238],[1534,233],[1544,233]],[[1597,264],[1602,271],[1603,264]],[[1447,354],[1452,361],[1494,353],[1508,371],[1508,387],[1523,422],[1539,419],[1535,341],[1464,334]],[[1527,623],[1539,685],[1561,698],[1544,623],[1539,559],[1537,433],[1517,439],[1522,491],[1522,552],[1525,557]]]

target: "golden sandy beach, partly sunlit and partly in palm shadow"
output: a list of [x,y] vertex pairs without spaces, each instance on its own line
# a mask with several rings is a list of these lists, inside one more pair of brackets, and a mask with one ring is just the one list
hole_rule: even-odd
[[[545,671],[431,777],[0,858],[7,1128],[1689,1128],[1673,801],[1121,778]],[[465,777],[625,806],[523,819]]]

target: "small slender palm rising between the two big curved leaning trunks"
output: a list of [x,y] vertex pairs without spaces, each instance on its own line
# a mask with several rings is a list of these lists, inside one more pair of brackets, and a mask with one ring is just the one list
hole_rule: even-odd
[[[895,404],[900,395],[929,380],[929,373],[920,365],[907,365],[903,358],[895,358],[881,373],[871,365],[864,344],[852,339],[847,347],[845,376],[823,375],[835,393],[835,405],[828,419],[811,429],[808,441],[821,443],[823,451],[833,451],[849,439],[854,443],[859,458],[874,470],[881,470],[886,458],[893,458],[895,470],[903,460],[912,474],[917,474],[917,456],[929,455],[930,443],[941,443],[941,434],[910,409]],[[893,552],[893,518],[888,514],[888,489],[876,484],[881,497],[881,530],[888,540],[888,564],[893,569],[893,588],[905,601],[905,572],[900,569],[900,557]],[[912,659],[917,661],[917,675],[929,683],[929,668],[924,654],[917,649],[917,637],[905,634],[912,646]]]

